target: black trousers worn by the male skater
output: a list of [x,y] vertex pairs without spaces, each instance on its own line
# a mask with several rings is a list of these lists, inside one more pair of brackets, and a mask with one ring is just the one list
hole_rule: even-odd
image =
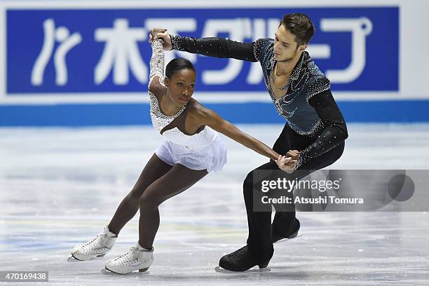
[[[289,125],[286,124],[285,128],[283,128],[280,136],[275,142],[273,150],[282,155],[286,154],[286,152],[289,150],[303,150],[312,144],[315,141],[315,137],[317,136],[318,135],[308,137],[305,135],[298,135],[296,132],[294,132],[294,130],[292,130],[292,128],[290,128]],[[282,177],[285,177],[286,179],[292,179],[292,177],[293,179],[302,179],[311,174],[311,172],[325,168],[334,163],[341,157],[343,150],[344,143],[339,144],[334,149],[328,151],[325,154],[322,154],[322,156],[304,163],[292,174],[282,172]],[[247,245],[250,248],[250,251],[262,262],[269,261],[271,257],[273,257],[273,229],[282,236],[289,236],[294,231],[294,226],[297,224],[297,222],[295,222],[296,218],[294,210],[288,212],[276,211],[273,224],[271,224],[271,212],[256,212],[253,210],[253,178],[254,172],[259,170],[278,170],[278,166],[274,161],[270,161],[264,165],[261,165],[249,172],[243,183],[243,194],[247,211],[247,223],[249,226]]]

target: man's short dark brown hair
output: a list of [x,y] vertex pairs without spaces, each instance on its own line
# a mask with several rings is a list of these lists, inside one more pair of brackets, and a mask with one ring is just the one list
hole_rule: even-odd
[[295,41],[297,41],[298,46],[308,44],[315,32],[310,18],[302,13],[284,15],[280,25],[283,25],[287,31],[295,35]]

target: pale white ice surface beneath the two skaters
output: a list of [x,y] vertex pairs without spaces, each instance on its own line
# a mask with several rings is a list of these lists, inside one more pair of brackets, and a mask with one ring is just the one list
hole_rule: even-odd
[[[239,125],[272,145],[282,125]],[[429,170],[429,125],[348,125],[331,169]],[[149,274],[102,275],[137,243],[138,215],[103,259],[67,262],[102,231],[161,142],[151,127],[0,128],[0,271],[49,271],[28,285],[429,285],[426,212],[298,212],[300,238],[264,273],[216,273],[245,245],[242,182],[267,159],[225,139],[224,170],[163,203]],[[25,283],[0,282],[0,285]]]

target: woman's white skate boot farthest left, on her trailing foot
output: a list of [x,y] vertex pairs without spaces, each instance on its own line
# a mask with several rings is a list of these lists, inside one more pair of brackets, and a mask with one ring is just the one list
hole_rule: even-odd
[[[104,255],[111,250],[111,247],[113,247],[116,238],[118,238],[118,236],[109,231],[109,228],[105,226],[103,231],[93,240],[74,247],[73,251],[71,251],[71,257],[77,260],[90,260],[94,257],[104,257]],[[69,261],[71,261],[71,258],[69,258]]]

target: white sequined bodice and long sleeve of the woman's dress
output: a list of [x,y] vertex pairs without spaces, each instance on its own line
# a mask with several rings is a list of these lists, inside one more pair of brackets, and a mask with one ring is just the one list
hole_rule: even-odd
[[[162,43],[160,41],[154,41],[152,43],[152,57],[150,62],[151,67],[151,76],[149,80],[149,87],[153,80],[158,80],[159,85],[163,86],[164,79],[164,56],[162,50]],[[158,83],[157,83],[158,84]],[[151,104],[151,121],[152,125],[156,132],[161,133],[163,128],[172,123],[179,116],[186,116],[184,112],[187,112],[188,104],[192,104],[193,102],[189,101],[182,109],[177,111],[177,114],[168,116],[163,114],[161,111],[160,102],[158,102],[158,98],[154,93],[149,91],[149,100]],[[201,151],[205,149],[208,145],[212,144],[214,140],[217,138],[218,134],[209,126],[205,126],[203,130],[193,135],[186,135],[184,132],[179,130],[179,128],[174,127],[168,130],[164,130],[162,133],[163,137],[168,139],[170,142],[178,145],[178,148],[184,149],[184,151]]]

